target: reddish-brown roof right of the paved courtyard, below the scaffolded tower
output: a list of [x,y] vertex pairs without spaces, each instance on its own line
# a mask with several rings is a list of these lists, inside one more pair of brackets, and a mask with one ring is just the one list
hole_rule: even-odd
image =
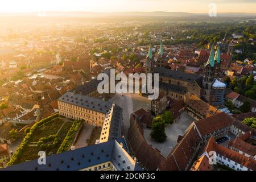
[[211,117],[200,119],[199,121],[195,122],[199,133],[202,136],[208,135],[213,133],[214,131],[218,131],[224,127],[228,127],[232,125],[232,123],[236,119],[233,118],[231,115],[226,113],[218,113]]

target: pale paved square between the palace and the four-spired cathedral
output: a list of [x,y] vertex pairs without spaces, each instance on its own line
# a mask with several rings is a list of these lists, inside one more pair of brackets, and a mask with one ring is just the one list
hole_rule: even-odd
[[151,101],[147,97],[142,97],[138,94],[123,94],[123,96],[121,94],[115,94],[109,101],[115,102],[115,104],[123,109],[123,134],[126,138],[130,127],[131,113],[141,108],[148,110],[151,107]]

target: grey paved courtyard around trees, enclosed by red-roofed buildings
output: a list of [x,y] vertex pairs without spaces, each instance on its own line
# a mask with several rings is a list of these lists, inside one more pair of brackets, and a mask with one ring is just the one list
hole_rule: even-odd
[[188,115],[187,112],[183,111],[177,122],[166,127],[167,138],[165,142],[159,143],[152,139],[150,137],[151,129],[143,129],[144,138],[148,144],[160,151],[164,157],[167,157],[176,146],[179,135],[183,136],[193,121],[195,121],[195,119]]

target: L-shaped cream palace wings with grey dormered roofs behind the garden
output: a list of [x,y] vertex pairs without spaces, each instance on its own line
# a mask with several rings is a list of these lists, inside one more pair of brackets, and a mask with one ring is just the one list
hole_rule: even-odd
[[121,137],[122,108],[109,101],[67,92],[58,100],[59,114],[102,127],[100,142]]

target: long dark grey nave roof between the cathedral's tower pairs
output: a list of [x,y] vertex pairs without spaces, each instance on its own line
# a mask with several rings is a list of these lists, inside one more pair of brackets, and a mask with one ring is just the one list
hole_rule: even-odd
[[194,73],[185,73],[183,71],[174,71],[167,68],[154,67],[154,73],[159,73],[159,76],[173,78],[175,80],[181,80],[186,82],[195,81],[200,78],[200,75]]

